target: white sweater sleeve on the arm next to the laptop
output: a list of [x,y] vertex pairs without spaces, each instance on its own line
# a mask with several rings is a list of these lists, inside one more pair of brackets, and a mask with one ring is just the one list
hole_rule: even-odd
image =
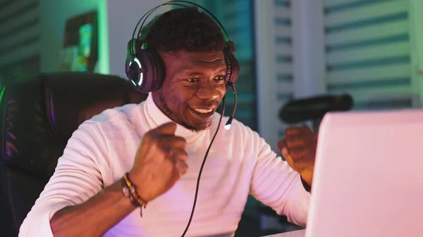
[[305,226],[311,195],[302,186],[300,174],[276,155],[257,133],[252,137],[258,154],[250,193],[278,214],[286,215],[288,222]]

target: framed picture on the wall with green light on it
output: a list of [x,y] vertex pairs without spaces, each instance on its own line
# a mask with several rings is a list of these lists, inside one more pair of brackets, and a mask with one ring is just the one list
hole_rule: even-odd
[[59,70],[94,72],[98,60],[97,11],[67,20],[64,34]]

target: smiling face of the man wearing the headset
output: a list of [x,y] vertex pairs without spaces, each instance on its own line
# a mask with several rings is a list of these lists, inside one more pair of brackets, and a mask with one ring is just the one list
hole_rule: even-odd
[[171,120],[192,131],[207,129],[226,93],[222,51],[160,53],[166,68],[164,83],[152,93]]

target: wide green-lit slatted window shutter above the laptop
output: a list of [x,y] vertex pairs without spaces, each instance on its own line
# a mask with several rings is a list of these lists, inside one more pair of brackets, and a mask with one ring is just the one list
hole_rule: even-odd
[[325,0],[327,91],[355,110],[413,104],[408,0]]

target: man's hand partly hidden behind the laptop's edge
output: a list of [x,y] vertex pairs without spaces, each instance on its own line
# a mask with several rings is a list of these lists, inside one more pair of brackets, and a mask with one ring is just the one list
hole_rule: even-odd
[[309,127],[289,127],[285,139],[278,141],[278,148],[288,165],[312,186],[314,160],[316,158],[317,135]]

